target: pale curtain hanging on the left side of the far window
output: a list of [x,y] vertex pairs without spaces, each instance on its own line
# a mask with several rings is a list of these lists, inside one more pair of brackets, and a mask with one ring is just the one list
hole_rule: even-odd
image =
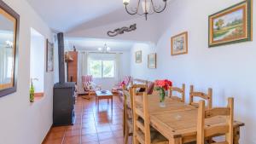
[[79,52],[79,78],[78,78],[78,91],[79,94],[84,94],[84,86],[82,82],[82,76],[87,75],[87,61],[88,61],[88,53],[87,52]]

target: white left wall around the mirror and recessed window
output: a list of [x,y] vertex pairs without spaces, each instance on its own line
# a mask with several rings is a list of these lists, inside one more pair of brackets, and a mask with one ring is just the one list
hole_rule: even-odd
[[52,124],[53,73],[44,73],[44,98],[29,102],[30,30],[52,39],[49,27],[26,0],[3,0],[20,14],[20,41],[17,92],[0,98],[0,143],[39,144]]

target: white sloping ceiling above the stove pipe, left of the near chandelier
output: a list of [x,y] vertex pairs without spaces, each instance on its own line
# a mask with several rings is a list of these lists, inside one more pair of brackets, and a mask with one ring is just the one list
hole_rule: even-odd
[[[92,28],[137,18],[125,12],[122,0],[27,0],[56,32]],[[162,0],[154,0],[156,5]],[[131,0],[134,8],[137,0]],[[141,10],[141,9],[140,9]]]

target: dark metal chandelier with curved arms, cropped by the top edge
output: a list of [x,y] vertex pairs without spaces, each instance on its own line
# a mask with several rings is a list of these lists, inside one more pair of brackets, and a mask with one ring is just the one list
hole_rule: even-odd
[[[128,10],[127,6],[130,3],[130,0],[123,0],[123,3],[125,5],[125,10],[128,14],[139,14],[138,9],[140,5],[143,7],[143,13],[139,15],[145,15],[146,20],[148,20],[148,14],[154,14],[154,13],[161,13],[166,9],[167,0],[162,0],[165,4],[164,7],[155,6],[155,3],[153,3],[153,0],[138,0],[137,2],[137,8],[131,9],[131,11]],[[152,9],[150,9],[152,8]]]

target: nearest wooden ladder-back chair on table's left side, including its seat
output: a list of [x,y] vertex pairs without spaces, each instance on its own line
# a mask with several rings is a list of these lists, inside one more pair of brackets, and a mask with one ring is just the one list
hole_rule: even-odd
[[137,88],[146,85],[133,85],[133,144],[168,144],[166,138],[156,130],[150,130],[148,95],[137,95]]

